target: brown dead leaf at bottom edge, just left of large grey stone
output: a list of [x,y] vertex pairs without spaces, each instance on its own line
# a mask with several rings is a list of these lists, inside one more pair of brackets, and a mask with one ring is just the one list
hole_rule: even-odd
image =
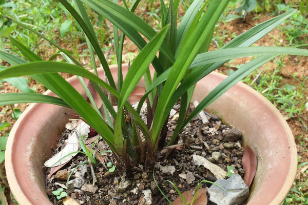
[[[206,197],[206,188],[199,189],[197,196],[194,201],[194,205],[206,205],[207,204],[207,197]],[[190,204],[194,195],[192,191],[185,191],[182,193],[184,199],[186,200],[187,204]],[[184,202],[180,196],[176,198],[173,202],[174,205],[184,205]]]

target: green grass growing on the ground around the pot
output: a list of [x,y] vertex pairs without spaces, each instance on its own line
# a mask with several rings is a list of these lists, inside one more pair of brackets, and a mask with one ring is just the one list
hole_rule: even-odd
[[[70,1],[72,2],[72,1]],[[188,5],[191,4],[191,0],[181,0],[180,5],[185,11],[188,8]],[[128,4],[130,2],[128,1]],[[160,18],[160,7],[153,7],[156,5],[156,1],[147,0],[145,1],[144,7],[145,12],[140,15],[143,18],[148,18],[149,24],[155,22]],[[241,0],[234,0],[230,2],[228,10],[221,17],[221,25],[226,25],[227,22],[231,19],[234,19],[235,8],[239,7],[239,4],[243,3]],[[280,26],[280,32],[285,33],[284,43],[295,45],[307,42],[308,34],[308,22],[306,20],[307,15],[307,1],[290,1],[288,4],[282,4],[282,1],[269,1],[261,0],[258,1],[258,6],[255,11],[261,13],[261,15],[266,12],[270,14],[278,14],[284,11],[287,11],[289,8],[298,8],[299,10],[292,15],[291,18],[286,20],[286,22]],[[146,9],[153,8],[153,9]],[[268,13],[266,13],[267,15]],[[67,49],[70,50],[72,54],[78,59],[85,59],[85,64],[89,61],[86,59],[89,58],[89,51],[84,46],[85,39],[80,35],[80,28],[70,19],[70,15],[67,15],[67,11],[59,4],[51,0],[33,0],[33,1],[13,1],[5,3],[0,0],[0,16],[5,15],[15,19],[19,19],[22,22],[26,23],[31,28],[44,33],[48,38],[60,42],[60,44],[66,44]],[[101,47],[105,53],[110,52],[109,54],[109,64],[115,64],[115,55],[112,53],[112,28],[110,29],[106,24],[106,21],[102,16],[92,12],[90,18],[93,22],[95,30],[98,31],[99,40]],[[160,30],[160,28],[155,28]],[[53,31],[47,33],[46,31]],[[11,53],[19,54],[16,50],[12,49],[6,38],[6,35],[12,34],[18,41],[22,42],[27,47],[31,48],[32,51],[38,52],[43,55],[46,59],[55,54],[55,50],[51,49],[45,40],[37,35],[32,34],[26,29],[17,27],[16,24],[11,23],[9,20],[0,17],[0,50],[7,50]],[[64,40],[62,37],[66,37]],[[228,38],[235,37],[235,33],[228,33],[220,30],[220,27],[216,27],[216,32],[213,38],[213,42],[218,48],[221,47],[223,42]],[[276,41],[277,44],[281,44],[279,40]],[[127,43],[127,42],[126,42]],[[127,43],[129,47],[129,43]],[[128,50],[126,57],[123,59],[125,62],[128,62],[129,59],[132,60],[136,56],[136,51]],[[61,59],[59,59],[61,60]],[[0,64],[4,63],[0,60]],[[304,128],[306,128],[305,122],[302,119],[303,113],[306,114],[307,104],[307,89],[305,87],[306,78],[300,79],[296,74],[290,73],[291,80],[288,83],[285,83],[282,76],[282,72],[285,69],[284,61],[282,58],[276,59],[272,64],[272,68],[263,68],[263,71],[255,71],[243,81],[251,85],[258,92],[262,93],[266,98],[268,98],[272,103],[285,114],[286,117],[296,118]],[[0,90],[3,88],[3,81],[0,82]],[[1,107],[0,107],[1,108]],[[11,107],[1,108],[3,111],[0,112],[0,116],[10,115]],[[16,112],[19,112],[16,110]],[[13,115],[15,118],[15,115]],[[306,115],[305,115],[306,116]],[[13,118],[14,118],[13,117]],[[10,130],[9,122],[0,121],[0,132],[1,137],[7,137]],[[307,137],[306,135],[296,136],[298,145],[304,148],[304,152],[307,152]],[[2,148],[2,150],[4,149]],[[301,154],[301,153],[299,153]],[[306,164],[301,156],[299,156],[299,172],[303,169]],[[283,204],[308,204],[308,195],[306,194],[308,189],[308,169],[299,174],[297,180],[294,181],[294,186],[287,194]],[[8,187],[7,187],[8,188]],[[7,189],[6,188],[6,189]],[[0,189],[0,192],[4,192],[4,188]],[[0,193],[0,194],[1,194]]]

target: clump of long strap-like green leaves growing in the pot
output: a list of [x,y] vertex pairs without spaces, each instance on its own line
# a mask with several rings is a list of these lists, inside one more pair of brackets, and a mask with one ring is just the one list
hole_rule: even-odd
[[[114,158],[117,160],[118,170],[120,173],[126,172],[127,175],[131,174],[131,159],[137,162],[145,162],[146,169],[152,167],[155,161],[158,160],[155,157],[157,156],[156,153],[163,149],[164,146],[168,115],[179,99],[181,99],[181,108],[178,124],[168,140],[167,146],[177,141],[180,131],[194,116],[259,66],[279,54],[308,55],[307,50],[299,48],[249,47],[292,15],[295,12],[294,10],[267,20],[237,36],[217,51],[206,52],[209,48],[215,25],[229,2],[228,0],[207,1],[206,4],[203,4],[201,0],[195,0],[187,9],[178,27],[177,10],[179,0],[170,1],[168,8],[161,4],[162,30],[159,33],[133,13],[140,1],[134,1],[130,7],[126,4],[122,7],[116,4],[116,0],[114,2],[107,0],[76,0],[74,1],[75,8],[65,0],[60,0],[59,2],[73,16],[86,36],[94,74],[84,69],[78,60],[41,33],[17,20],[7,18],[54,45],[63,53],[67,63],[43,61],[42,58],[20,42],[10,38],[11,43],[20,50],[28,61],[0,51],[0,57],[12,65],[12,67],[7,67],[0,71],[0,78],[29,75],[59,97],[35,93],[8,93],[0,95],[0,105],[39,102],[73,108],[87,124],[106,140],[113,151]],[[117,80],[113,79],[111,75],[84,4],[87,8],[92,8],[113,24],[114,47],[118,64]],[[122,31],[121,35],[118,29]],[[149,40],[148,43],[142,35]],[[129,37],[141,51],[133,60],[124,79],[121,64],[125,36]],[[157,51],[159,51],[158,56],[156,56]],[[94,52],[98,55],[108,83],[98,77]],[[229,59],[255,55],[259,55],[259,57],[243,65],[230,75],[188,115],[192,92],[201,78],[223,65]],[[156,71],[153,80],[149,72],[150,64],[153,65]],[[57,72],[78,75],[91,103],[89,104]],[[90,79],[91,85],[101,97],[102,109],[95,104],[95,100],[81,76]],[[142,76],[145,79],[146,93],[141,98],[137,110],[134,110],[127,99]],[[115,83],[118,85],[115,86]],[[104,89],[102,90],[101,87]],[[115,98],[118,106],[117,112],[115,112],[108,99],[110,95]],[[147,125],[139,116],[141,106],[145,100],[147,101]],[[129,120],[125,120],[127,117]],[[143,133],[142,136],[139,131]]]

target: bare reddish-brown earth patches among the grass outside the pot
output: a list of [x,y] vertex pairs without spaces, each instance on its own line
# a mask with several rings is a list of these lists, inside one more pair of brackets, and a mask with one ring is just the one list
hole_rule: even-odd
[[[262,16],[266,16],[264,14],[262,14]],[[248,13],[246,20],[243,22],[242,19],[235,19],[232,20],[231,22],[228,22],[227,24],[220,24],[219,28],[217,29],[217,31],[225,31],[225,35],[226,36],[232,36],[232,34],[240,34],[250,28],[252,28],[253,26],[255,26],[256,24],[259,24],[261,22],[264,22],[264,20],[267,20],[271,18],[271,16],[266,16],[266,17],[261,17],[259,14],[251,14]],[[259,40],[256,45],[258,46],[275,46],[277,43],[281,43],[281,45],[288,45],[288,42],[286,42],[284,40],[285,35],[283,33],[280,32],[279,29],[275,29],[274,31],[272,31],[271,33],[269,33],[268,35],[266,35],[264,38],[262,38],[261,40]],[[225,42],[228,42],[231,38],[230,37],[226,37],[224,39]],[[211,44],[211,48],[210,50],[214,50],[217,49],[216,44],[212,43]],[[50,49],[50,47],[48,46],[44,46],[42,47],[43,52],[42,53],[50,53],[49,56],[51,56],[54,53],[54,50]],[[48,50],[48,52],[46,52]],[[138,49],[136,49],[136,47],[132,47],[131,44],[129,42],[125,42],[125,49],[124,52],[137,52]],[[44,56],[44,58],[48,58],[49,56]],[[246,62],[246,60],[249,58],[240,58],[240,59],[236,59],[233,61],[232,64],[229,64],[229,67],[224,66],[223,68],[221,68],[219,71],[222,73],[227,72],[228,69],[234,69],[235,70],[235,66],[239,65],[239,64],[243,64]],[[127,63],[127,59],[125,59]],[[84,64],[87,64],[89,62],[89,60],[87,58],[85,58],[84,60]],[[308,70],[304,69],[308,67],[308,62],[307,62],[307,58],[299,58],[297,56],[286,56],[284,58],[284,63],[285,63],[285,70],[287,70],[288,72],[286,72],[285,70],[282,70],[281,75],[283,76],[283,83],[285,84],[290,84],[290,85],[294,85],[297,86],[298,85],[298,81],[296,79],[294,79],[290,74],[288,73],[297,73],[297,78],[300,80],[303,80],[307,74],[308,74]],[[5,65],[5,62],[3,62],[3,65]],[[270,62],[266,69],[268,69],[267,71],[264,72],[271,72],[271,70],[274,70],[276,67],[276,64],[274,62]],[[65,75],[65,77],[68,77],[68,75]],[[253,76],[252,76],[253,77]],[[305,86],[308,86],[308,83],[304,83]],[[36,90],[39,93],[42,93],[44,91],[43,86],[41,85],[37,85],[37,83],[35,83],[34,81],[29,82],[29,86],[31,87],[36,87]],[[5,93],[5,92],[18,92],[17,89],[15,89],[13,86],[11,86],[8,83],[3,83],[3,87],[1,88],[1,92]],[[305,92],[305,95],[308,94]],[[306,100],[307,101],[307,100]],[[28,104],[18,104],[18,105],[13,105],[14,108],[19,108],[21,109],[21,111],[24,111],[27,108]],[[6,109],[8,109],[8,111],[6,111]],[[6,130],[9,131],[11,130],[12,126],[14,125],[15,120],[11,117],[11,108],[10,107],[1,107],[0,108],[0,112],[2,112],[2,114],[0,114],[0,122],[5,121],[5,122],[9,122],[10,123],[10,127]],[[305,161],[308,161],[308,134],[307,134],[307,127],[306,125],[308,125],[308,113],[307,113],[307,109],[305,108],[303,110],[303,112],[301,113],[301,116],[292,116],[292,117],[288,117],[288,114],[284,111],[284,110],[280,110],[280,112],[283,114],[283,116],[285,116],[285,118],[287,119],[287,123],[290,126],[293,135],[295,137],[295,141],[297,144],[297,150],[298,150],[298,155],[301,156],[301,158],[299,159],[298,163],[302,163]],[[301,121],[299,121],[299,118],[301,119]],[[3,136],[5,134],[5,132],[0,133],[1,136]],[[7,186],[7,180],[5,177],[5,171],[4,171],[4,165],[2,164],[0,167],[0,177],[1,177],[1,183],[2,183],[2,187]],[[301,173],[301,169],[299,168],[297,171],[297,175],[296,175],[296,180],[299,182],[301,181],[303,178],[306,178],[306,174]],[[301,190],[303,193],[305,193],[307,190]],[[10,199],[10,192],[9,189],[6,189],[6,197],[8,199]],[[10,200],[8,200],[10,201]],[[9,202],[9,204],[14,204],[12,201]]]

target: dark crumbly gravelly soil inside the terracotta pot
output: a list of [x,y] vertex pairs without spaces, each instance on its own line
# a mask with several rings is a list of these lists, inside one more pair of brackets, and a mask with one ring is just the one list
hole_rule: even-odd
[[[177,114],[168,121],[166,141],[169,140],[176,127],[176,120]],[[216,178],[209,170],[203,166],[197,166],[196,162],[192,160],[192,155],[200,155],[225,171],[227,171],[227,166],[233,166],[235,167],[235,173],[243,177],[244,170],[242,169],[241,158],[244,149],[241,146],[241,140],[228,142],[223,137],[225,131],[233,129],[223,124],[221,118],[216,115],[213,115],[209,119],[209,124],[206,125],[202,124],[198,117],[190,121],[190,124],[181,132],[181,138],[178,142],[178,144],[183,145],[175,148],[166,159],[157,161],[155,166],[155,179],[170,201],[174,201],[178,197],[178,193],[165,180],[172,181],[181,192],[195,190],[202,180],[216,181]],[[238,132],[237,130],[234,131]],[[67,133],[64,135],[67,136]],[[65,139],[66,137],[63,138],[63,140]],[[59,144],[65,143],[60,141]],[[99,152],[108,150],[108,146],[102,139],[96,142],[94,147]],[[213,154],[214,152],[215,155]],[[112,164],[115,163],[110,153],[102,156],[106,163],[109,161]],[[86,160],[86,155],[78,154],[61,168],[61,171],[58,171],[59,173],[56,174],[56,177],[54,176],[55,174],[50,177],[46,191],[53,204],[63,204],[62,200],[57,200],[56,196],[52,194],[52,191],[66,185],[65,178],[67,177],[63,178],[63,175],[68,176],[76,166]],[[76,169],[69,180],[80,177],[80,170],[81,167]],[[87,165],[86,171],[83,176],[84,181],[91,184],[92,176],[89,165]],[[169,204],[156,186],[153,179],[153,170],[146,172],[143,165],[137,165],[132,167],[132,171],[132,177],[120,176],[117,169],[114,172],[109,172],[108,168],[106,169],[100,163],[97,167],[94,167],[95,176],[97,177],[94,188],[89,188],[87,191],[82,191],[81,188],[68,188],[64,189],[64,191],[80,204],[146,204],[146,200],[151,200],[151,204]],[[46,178],[49,173],[50,169],[46,172]],[[202,183],[201,187],[210,186],[211,183]],[[146,197],[147,193],[150,193],[150,199]],[[216,203],[208,200],[207,204]]]

